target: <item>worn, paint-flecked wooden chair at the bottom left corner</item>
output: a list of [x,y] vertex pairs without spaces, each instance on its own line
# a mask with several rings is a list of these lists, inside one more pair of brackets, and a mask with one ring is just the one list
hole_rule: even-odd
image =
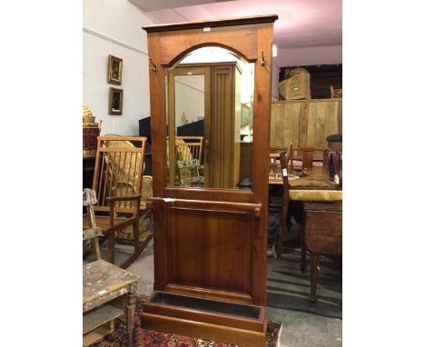
[[83,205],[87,208],[90,228],[83,231],[83,240],[94,247],[94,262],[83,265],[83,344],[89,346],[114,331],[114,319],[126,312],[128,346],[133,346],[135,292],[139,276],[128,273],[101,259],[94,204],[96,193],[84,189]]

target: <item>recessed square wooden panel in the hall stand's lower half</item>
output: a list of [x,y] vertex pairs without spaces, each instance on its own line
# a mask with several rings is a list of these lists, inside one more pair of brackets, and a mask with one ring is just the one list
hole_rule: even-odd
[[247,213],[173,208],[171,283],[250,292]]

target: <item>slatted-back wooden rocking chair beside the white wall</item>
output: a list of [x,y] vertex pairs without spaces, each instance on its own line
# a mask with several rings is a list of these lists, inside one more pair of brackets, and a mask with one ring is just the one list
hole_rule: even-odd
[[[138,142],[136,147],[130,141]],[[114,263],[116,233],[131,227],[134,252],[121,267],[127,268],[152,238],[141,243],[140,218],[146,211],[141,203],[145,137],[99,136],[94,164],[93,190],[97,192],[94,218],[108,240],[108,262]],[[142,211],[142,213],[141,213]],[[90,227],[87,214],[84,228]],[[127,240],[128,241],[128,240]]]

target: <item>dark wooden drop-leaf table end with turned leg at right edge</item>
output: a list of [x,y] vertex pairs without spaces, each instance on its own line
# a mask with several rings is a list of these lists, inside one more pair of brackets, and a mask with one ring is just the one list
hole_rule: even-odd
[[[342,255],[342,202],[301,203],[302,240],[311,259],[311,304],[316,302],[319,256]],[[305,269],[305,256],[301,261]]]

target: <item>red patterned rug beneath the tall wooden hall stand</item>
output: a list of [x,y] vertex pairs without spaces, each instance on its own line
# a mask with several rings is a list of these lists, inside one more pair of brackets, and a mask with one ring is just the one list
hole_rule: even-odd
[[[237,347],[235,344],[205,341],[189,336],[174,333],[155,332],[140,327],[140,315],[142,313],[144,296],[139,296],[136,302],[134,316],[134,347]],[[124,317],[114,322],[115,331],[105,336],[100,342],[94,343],[94,347],[124,347],[127,345],[127,334],[125,330]],[[269,321],[267,326],[266,347],[277,347],[279,345],[279,331],[281,322]]]

